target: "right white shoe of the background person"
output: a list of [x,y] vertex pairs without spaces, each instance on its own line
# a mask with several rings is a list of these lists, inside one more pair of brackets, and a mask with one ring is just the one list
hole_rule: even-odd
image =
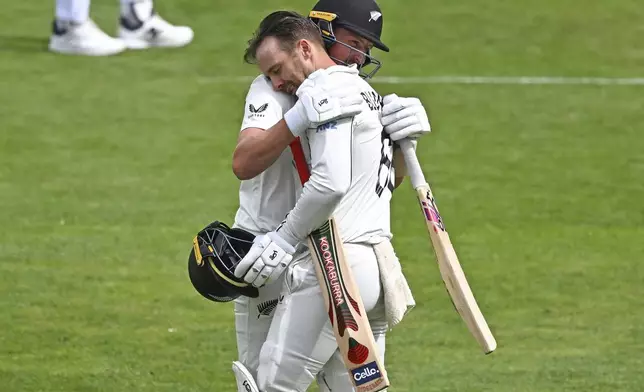
[[134,23],[121,17],[119,37],[129,49],[178,48],[192,42],[194,32],[188,26],[174,26],[153,13]]

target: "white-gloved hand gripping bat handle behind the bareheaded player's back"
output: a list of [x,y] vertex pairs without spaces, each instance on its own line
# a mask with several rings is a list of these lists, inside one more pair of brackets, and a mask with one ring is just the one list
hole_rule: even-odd
[[427,112],[418,98],[400,98],[396,94],[385,96],[381,121],[393,141],[417,139],[432,131]]

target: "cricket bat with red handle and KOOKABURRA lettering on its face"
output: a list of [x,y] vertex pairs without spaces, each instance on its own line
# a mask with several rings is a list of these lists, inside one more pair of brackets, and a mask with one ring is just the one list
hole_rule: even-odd
[[[291,143],[291,151],[304,185],[310,171],[299,139]],[[335,339],[355,390],[375,392],[389,387],[387,371],[379,359],[367,312],[333,217],[308,236],[308,246]]]

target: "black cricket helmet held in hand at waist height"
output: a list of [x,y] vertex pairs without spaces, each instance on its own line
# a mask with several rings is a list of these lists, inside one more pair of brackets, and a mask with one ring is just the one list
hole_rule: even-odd
[[188,257],[190,281],[199,294],[215,302],[229,302],[242,295],[259,296],[257,288],[235,276],[235,267],[254,239],[253,234],[231,229],[219,221],[201,230]]

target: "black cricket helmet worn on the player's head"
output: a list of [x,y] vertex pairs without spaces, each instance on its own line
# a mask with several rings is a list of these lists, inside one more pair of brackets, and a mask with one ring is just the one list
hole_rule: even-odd
[[[389,47],[380,40],[383,17],[380,7],[374,0],[319,0],[309,13],[309,19],[320,28],[327,50],[332,45],[338,44],[364,56],[365,63],[359,67],[360,76],[370,79],[378,72],[382,63],[371,56],[371,51],[364,53],[339,42],[333,32],[334,27],[343,27],[373,42],[376,48],[389,52]],[[340,59],[333,60],[338,64],[348,65]],[[369,66],[368,69],[367,66]]]

